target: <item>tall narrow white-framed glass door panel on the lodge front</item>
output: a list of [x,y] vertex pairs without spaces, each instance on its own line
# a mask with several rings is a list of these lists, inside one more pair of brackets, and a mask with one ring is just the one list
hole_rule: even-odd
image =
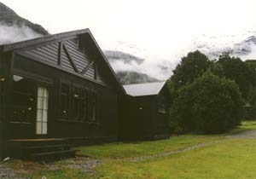
[[49,92],[44,87],[38,87],[37,104],[37,135],[47,134]]

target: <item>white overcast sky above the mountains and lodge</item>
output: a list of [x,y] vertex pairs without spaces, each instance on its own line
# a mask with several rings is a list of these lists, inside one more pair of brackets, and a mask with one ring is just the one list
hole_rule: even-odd
[[255,0],[2,0],[50,33],[90,28],[102,49],[171,59],[193,39],[256,31]]

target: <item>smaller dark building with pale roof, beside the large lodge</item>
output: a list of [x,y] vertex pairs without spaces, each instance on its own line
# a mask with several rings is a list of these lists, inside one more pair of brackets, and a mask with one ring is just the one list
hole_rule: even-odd
[[169,137],[169,91],[166,81],[124,85],[121,100],[120,137],[123,140],[155,140]]

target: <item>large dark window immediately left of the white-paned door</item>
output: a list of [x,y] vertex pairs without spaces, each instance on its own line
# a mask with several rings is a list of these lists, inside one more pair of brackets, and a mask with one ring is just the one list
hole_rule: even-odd
[[27,78],[14,75],[11,121],[33,122],[36,113],[36,84]]

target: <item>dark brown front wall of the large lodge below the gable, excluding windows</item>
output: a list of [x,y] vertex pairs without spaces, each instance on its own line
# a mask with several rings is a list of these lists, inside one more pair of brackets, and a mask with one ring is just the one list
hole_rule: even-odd
[[[118,136],[118,92],[110,87],[95,84],[84,78],[37,61],[15,55],[15,70],[18,75],[25,75],[49,86],[49,124],[48,137],[115,137]],[[104,73],[104,72],[102,72]],[[63,121],[58,118],[59,82],[61,79],[95,90],[98,95],[97,123]],[[108,81],[108,79],[107,79]],[[9,138],[35,137],[35,124],[9,123]]]

